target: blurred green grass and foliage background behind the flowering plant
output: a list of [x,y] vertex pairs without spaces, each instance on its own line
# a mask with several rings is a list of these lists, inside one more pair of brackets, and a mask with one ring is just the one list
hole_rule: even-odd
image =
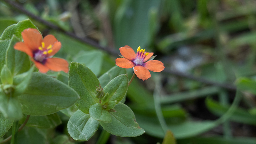
[[[124,45],[134,50],[141,46],[164,63],[163,72],[151,72],[146,81],[135,78],[127,92],[125,103],[146,133],[134,138],[111,135],[108,143],[162,143],[167,129],[171,132],[163,143],[175,142],[170,133],[176,143],[255,143],[254,0],[12,2],[61,30],[0,1],[1,34],[6,27],[30,18],[43,36],[52,34],[61,42],[56,57],[82,63],[98,77],[115,66],[116,53]],[[90,38],[105,50],[63,31]],[[129,77],[132,73],[128,69]],[[67,74],[48,74],[67,84]],[[235,102],[235,95],[241,100]],[[19,133],[19,141],[96,143],[102,128],[87,142],[69,137],[67,122],[75,110],[73,106],[58,112],[54,117],[62,123],[50,124],[48,129],[28,125]],[[232,115],[223,118],[230,110]]]

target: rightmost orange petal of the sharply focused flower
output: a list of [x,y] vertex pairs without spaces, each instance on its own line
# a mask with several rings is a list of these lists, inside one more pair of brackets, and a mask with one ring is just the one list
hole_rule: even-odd
[[159,60],[149,60],[144,63],[144,67],[153,72],[160,72],[164,70],[164,64]]

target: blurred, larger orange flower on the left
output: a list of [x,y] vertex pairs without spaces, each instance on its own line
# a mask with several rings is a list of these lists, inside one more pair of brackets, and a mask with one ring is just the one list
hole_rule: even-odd
[[68,61],[52,56],[60,50],[61,43],[52,35],[42,37],[37,29],[28,28],[22,33],[23,42],[14,45],[15,50],[27,53],[41,73],[64,71],[68,73]]

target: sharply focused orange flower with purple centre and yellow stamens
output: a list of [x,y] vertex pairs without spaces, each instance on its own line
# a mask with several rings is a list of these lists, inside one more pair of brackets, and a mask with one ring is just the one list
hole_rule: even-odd
[[119,48],[119,50],[124,58],[117,58],[116,65],[121,68],[133,67],[136,76],[143,81],[151,76],[148,70],[160,72],[165,68],[161,61],[149,60],[149,58],[153,56],[153,52],[145,52],[145,50],[140,49],[140,46],[138,47],[136,54],[128,45]]

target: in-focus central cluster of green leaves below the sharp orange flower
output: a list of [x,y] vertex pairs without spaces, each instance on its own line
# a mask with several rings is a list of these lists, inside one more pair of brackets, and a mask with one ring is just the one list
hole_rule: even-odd
[[[128,89],[128,77],[120,69],[114,67],[98,79],[84,65],[71,63],[68,85],[81,97],[75,104],[79,110],[68,121],[68,132],[74,140],[89,140],[99,124],[107,132],[122,137],[135,137],[145,132],[136,123],[132,110],[120,103]],[[101,100],[105,99],[106,105],[96,98],[95,90],[100,87],[99,80],[105,94]]]

